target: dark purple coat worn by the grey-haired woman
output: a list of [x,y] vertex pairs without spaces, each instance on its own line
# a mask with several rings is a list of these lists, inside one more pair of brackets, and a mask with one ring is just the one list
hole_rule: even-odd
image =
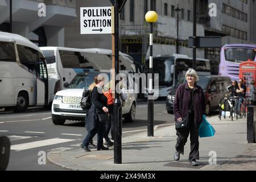
[[[191,106],[191,91],[188,87],[188,83],[181,84],[175,94],[174,101],[174,115],[175,121],[178,118],[185,118],[187,116],[189,107]],[[194,119],[196,124],[201,124],[203,121],[203,114],[205,114],[205,97],[204,90],[196,85],[195,90],[193,91],[193,111]]]

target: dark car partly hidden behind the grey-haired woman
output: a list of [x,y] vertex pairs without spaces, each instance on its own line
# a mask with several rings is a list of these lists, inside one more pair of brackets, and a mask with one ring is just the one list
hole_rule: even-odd
[[[185,78],[181,78],[177,84],[171,89],[170,93],[166,99],[166,110],[169,114],[174,113],[174,100],[175,93],[178,86],[185,82]],[[226,94],[229,94],[229,91],[226,89],[231,85],[231,78],[228,76],[199,76],[199,81],[197,85],[201,86],[204,90],[205,104],[206,104],[206,114],[213,110],[218,109],[221,98]]]

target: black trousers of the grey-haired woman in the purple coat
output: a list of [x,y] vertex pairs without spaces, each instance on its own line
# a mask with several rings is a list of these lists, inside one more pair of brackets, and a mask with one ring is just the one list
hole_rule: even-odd
[[177,130],[177,143],[176,143],[176,151],[180,154],[184,155],[184,146],[187,143],[188,135],[190,133],[190,146],[191,151],[189,154],[189,161],[199,159],[199,126],[196,125],[193,119],[193,116],[189,119],[189,126],[187,129]]

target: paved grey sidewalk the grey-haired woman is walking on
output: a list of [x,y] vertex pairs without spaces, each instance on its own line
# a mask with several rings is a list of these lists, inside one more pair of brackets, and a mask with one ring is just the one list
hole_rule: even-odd
[[[192,167],[188,162],[190,142],[185,145],[185,154],[175,162],[175,126],[158,127],[155,137],[147,137],[147,132],[122,138],[122,164],[114,164],[113,147],[109,151],[85,152],[82,148],[69,151],[51,151],[49,162],[72,170],[99,171],[193,171],[193,170],[256,170],[256,144],[246,140],[246,119],[230,121],[217,116],[208,117],[216,130],[214,137],[200,138],[200,166]],[[216,152],[217,164],[210,165]],[[213,160],[211,160],[213,162]]]

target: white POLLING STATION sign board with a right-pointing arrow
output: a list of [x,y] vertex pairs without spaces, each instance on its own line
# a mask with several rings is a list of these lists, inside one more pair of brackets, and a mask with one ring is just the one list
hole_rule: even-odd
[[81,34],[113,34],[112,7],[80,7]]

